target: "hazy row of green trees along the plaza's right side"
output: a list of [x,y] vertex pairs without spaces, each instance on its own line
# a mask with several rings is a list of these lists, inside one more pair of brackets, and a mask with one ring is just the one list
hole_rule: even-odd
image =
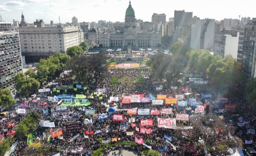
[[[181,43],[172,46],[173,55],[157,53],[151,56],[147,65],[152,67],[151,75],[159,82],[177,85],[186,71],[201,73],[202,77],[211,80],[222,93],[243,80],[241,65],[231,55],[212,56],[208,50],[190,49]],[[185,71],[185,72],[184,72]]]

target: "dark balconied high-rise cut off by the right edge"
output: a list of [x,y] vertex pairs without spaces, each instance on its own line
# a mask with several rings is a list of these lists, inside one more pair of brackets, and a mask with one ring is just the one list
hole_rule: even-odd
[[243,74],[249,77],[256,77],[256,18],[252,18],[245,26],[243,35],[243,53],[241,64],[243,65]]

